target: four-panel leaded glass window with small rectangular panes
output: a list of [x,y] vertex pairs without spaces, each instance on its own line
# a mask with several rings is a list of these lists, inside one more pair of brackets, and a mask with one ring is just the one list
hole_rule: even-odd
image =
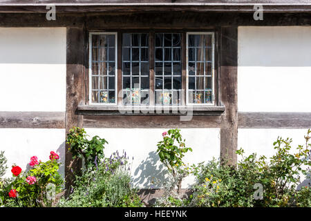
[[91,32],[88,103],[218,104],[214,39],[181,30]]

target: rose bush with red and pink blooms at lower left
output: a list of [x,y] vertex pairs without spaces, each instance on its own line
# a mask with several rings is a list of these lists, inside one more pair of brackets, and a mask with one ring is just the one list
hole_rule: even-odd
[[14,179],[3,189],[3,201],[6,206],[51,206],[52,201],[47,198],[47,186],[53,184],[55,193],[62,188],[63,179],[58,173],[59,156],[55,152],[50,153],[47,162],[38,162],[36,156],[30,157],[32,169],[22,173],[19,166],[12,166]]

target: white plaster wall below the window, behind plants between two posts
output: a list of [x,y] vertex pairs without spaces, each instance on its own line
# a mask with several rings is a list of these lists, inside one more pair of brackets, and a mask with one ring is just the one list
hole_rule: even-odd
[[[162,133],[167,128],[86,128],[86,133],[93,137],[99,135],[109,142],[104,149],[106,157],[111,153],[126,151],[126,155],[134,157],[131,174],[133,186],[138,188],[160,188],[160,184],[152,184],[153,177],[165,179],[162,163],[156,150],[162,140]],[[212,157],[220,156],[220,129],[219,128],[182,128],[182,137],[186,145],[193,148],[193,152],[185,155],[185,162],[197,164],[207,162]],[[194,182],[194,177],[187,177],[182,188],[187,188]]]

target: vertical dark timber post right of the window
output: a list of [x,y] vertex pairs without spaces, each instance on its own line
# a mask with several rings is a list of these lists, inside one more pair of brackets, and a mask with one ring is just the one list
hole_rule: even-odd
[[220,102],[226,107],[220,126],[220,158],[236,164],[238,146],[238,27],[220,28]]

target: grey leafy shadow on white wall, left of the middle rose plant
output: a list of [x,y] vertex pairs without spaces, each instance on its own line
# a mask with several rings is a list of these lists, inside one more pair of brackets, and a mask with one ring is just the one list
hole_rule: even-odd
[[149,152],[146,160],[142,160],[135,169],[133,183],[136,187],[143,189],[161,188],[164,182],[167,182],[167,170],[160,163],[160,157],[156,151]]

